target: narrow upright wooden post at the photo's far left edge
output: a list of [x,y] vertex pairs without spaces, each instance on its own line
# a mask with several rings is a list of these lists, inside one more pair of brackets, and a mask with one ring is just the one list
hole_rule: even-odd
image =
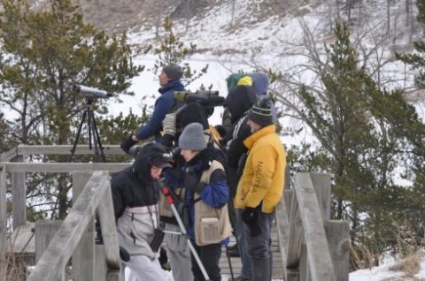
[[6,239],[6,169],[4,165],[0,165],[0,281],[6,281],[7,276]]

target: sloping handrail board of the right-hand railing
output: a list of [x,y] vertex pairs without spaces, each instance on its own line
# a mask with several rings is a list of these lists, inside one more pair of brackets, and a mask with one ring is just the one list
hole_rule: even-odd
[[334,281],[335,270],[329,254],[328,240],[319,211],[319,202],[313,189],[309,173],[299,173],[295,177],[295,191],[305,232],[308,264],[313,281]]

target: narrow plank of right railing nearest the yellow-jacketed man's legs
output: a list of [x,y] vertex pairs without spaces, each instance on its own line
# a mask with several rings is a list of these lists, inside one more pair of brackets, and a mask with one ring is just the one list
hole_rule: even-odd
[[288,220],[288,212],[286,210],[286,203],[284,196],[276,208],[276,229],[277,240],[279,243],[279,252],[282,258],[283,276],[286,277],[287,253],[290,243],[290,221]]

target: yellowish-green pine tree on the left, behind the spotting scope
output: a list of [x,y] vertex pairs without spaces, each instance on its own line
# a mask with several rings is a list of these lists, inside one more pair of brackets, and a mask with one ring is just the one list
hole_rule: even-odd
[[[0,102],[19,116],[12,124],[11,141],[72,144],[75,124],[85,109],[84,96],[73,92],[74,84],[132,94],[127,92],[130,79],[142,68],[133,65],[125,33],[108,36],[83,23],[70,0],[52,0],[43,11],[32,10],[24,1],[2,4]],[[95,109],[107,112],[103,103],[97,99]],[[51,195],[59,216],[66,215],[69,182],[60,175],[58,191]],[[48,180],[43,188],[49,189]]]

